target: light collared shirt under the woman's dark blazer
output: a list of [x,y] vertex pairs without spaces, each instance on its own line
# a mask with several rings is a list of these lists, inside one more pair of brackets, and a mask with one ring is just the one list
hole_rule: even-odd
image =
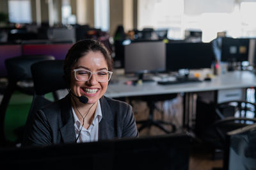
[[98,141],[98,139],[99,139],[99,123],[100,123],[100,120],[102,119],[102,112],[101,112],[99,100],[98,100],[98,105],[97,105],[97,108],[96,108],[96,111],[94,114],[93,121],[88,129],[82,127],[83,122],[81,123],[79,121],[73,107],[72,107],[72,113],[74,116],[74,127],[75,127],[75,131],[76,131],[76,138],[78,137],[79,131],[82,128],[81,134],[79,135],[79,138],[77,139],[77,143]]

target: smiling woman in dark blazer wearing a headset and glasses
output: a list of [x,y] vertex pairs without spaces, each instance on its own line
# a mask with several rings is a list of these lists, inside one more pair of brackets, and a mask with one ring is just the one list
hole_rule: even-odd
[[112,59],[102,43],[75,43],[64,62],[69,94],[36,112],[24,146],[138,137],[131,105],[104,97],[111,71]]

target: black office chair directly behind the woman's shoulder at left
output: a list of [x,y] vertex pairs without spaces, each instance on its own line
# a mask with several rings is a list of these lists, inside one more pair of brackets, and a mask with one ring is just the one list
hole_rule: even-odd
[[[29,110],[28,118],[24,130],[24,142],[26,141],[31,127],[31,120],[35,112],[51,102],[59,100],[56,91],[66,89],[66,82],[63,77],[63,60],[40,61],[31,65],[35,93]],[[53,93],[54,100],[50,100],[45,95]]]

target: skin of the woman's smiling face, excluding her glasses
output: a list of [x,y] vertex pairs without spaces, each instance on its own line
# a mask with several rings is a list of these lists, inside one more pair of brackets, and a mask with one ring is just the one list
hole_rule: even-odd
[[[90,51],[85,56],[79,58],[73,69],[77,68],[89,70],[93,73],[99,71],[108,71],[107,62],[103,54],[99,51]],[[97,102],[99,98],[104,95],[104,93],[106,93],[108,81],[98,82],[95,74],[93,74],[92,77],[86,82],[77,81],[74,71],[71,71],[70,88],[75,95],[79,97],[85,96],[88,98],[88,104],[93,104]]]

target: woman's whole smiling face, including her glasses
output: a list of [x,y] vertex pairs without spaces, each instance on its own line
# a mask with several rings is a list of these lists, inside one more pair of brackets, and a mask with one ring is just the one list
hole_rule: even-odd
[[[74,68],[83,70],[72,70],[74,74],[71,74],[71,91],[77,96],[83,95],[87,97],[88,104],[95,103],[106,93],[108,88],[109,77],[107,76],[109,71],[104,56],[101,52],[90,51],[77,60]],[[93,75],[91,74],[92,72]],[[99,75],[100,73],[104,73],[105,76],[99,76],[98,73]],[[88,75],[90,75],[90,77]]]

